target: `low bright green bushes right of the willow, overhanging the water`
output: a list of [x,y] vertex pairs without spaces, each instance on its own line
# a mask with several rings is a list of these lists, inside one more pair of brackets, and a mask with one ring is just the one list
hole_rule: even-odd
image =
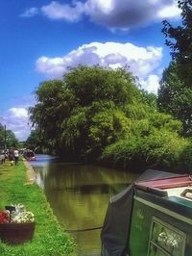
[[[125,141],[109,145],[103,153],[103,161],[120,164],[131,170],[156,167],[161,169],[191,171],[192,142],[165,128],[140,130]],[[187,154],[185,154],[187,152]]]

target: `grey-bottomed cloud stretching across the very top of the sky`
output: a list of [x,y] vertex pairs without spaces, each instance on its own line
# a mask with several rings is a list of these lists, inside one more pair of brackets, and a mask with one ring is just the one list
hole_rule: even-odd
[[52,1],[50,4],[27,9],[21,16],[30,17],[41,14],[50,19],[77,22],[88,17],[91,22],[112,30],[128,30],[163,18],[180,16],[176,0],[74,0]]

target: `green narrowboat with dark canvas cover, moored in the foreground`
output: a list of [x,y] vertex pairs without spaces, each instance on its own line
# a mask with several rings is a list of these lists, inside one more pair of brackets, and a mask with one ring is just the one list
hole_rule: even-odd
[[110,198],[102,256],[192,256],[192,177],[146,170]]

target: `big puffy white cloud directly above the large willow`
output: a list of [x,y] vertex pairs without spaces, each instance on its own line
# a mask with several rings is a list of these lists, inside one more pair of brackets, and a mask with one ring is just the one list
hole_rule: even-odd
[[[111,68],[129,66],[133,75],[141,81],[146,81],[148,76],[159,68],[161,58],[161,47],[138,47],[130,42],[91,42],[63,57],[48,58],[43,56],[38,58],[36,70],[53,79],[61,78],[63,73],[67,72],[68,66],[74,67],[79,64],[100,64]],[[148,84],[150,82],[152,84],[152,78]]]

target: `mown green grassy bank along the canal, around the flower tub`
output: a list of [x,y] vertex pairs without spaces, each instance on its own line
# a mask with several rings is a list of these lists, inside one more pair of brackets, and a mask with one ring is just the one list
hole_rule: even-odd
[[0,165],[0,209],[9,204],[24,204],[35,214],[36,231],[32,242],[10,246],[0,243],[1,256],[60,256],[75,255],[75,245],[64,234],[54,217],[44,194],[37,185],[27,185],[26,167],[10,166],[7,161]]

